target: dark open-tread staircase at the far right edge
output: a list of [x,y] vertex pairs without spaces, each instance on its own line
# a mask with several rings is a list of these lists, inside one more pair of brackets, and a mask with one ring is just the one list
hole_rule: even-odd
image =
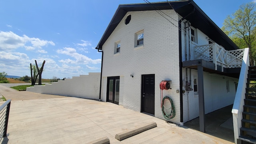
[[249,66],[238,144],[256,144],[256,66]]

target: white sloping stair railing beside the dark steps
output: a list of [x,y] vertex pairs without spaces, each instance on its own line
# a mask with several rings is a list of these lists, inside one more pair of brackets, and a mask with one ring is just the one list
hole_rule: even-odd
[[244,49],[244,56],[242,61],[242,67],[240,71],[240,76],[238,80],[238,86],[236,90],[236,96],[232,108],[233,115],[233,126],[234,126],[234,139],[237,144],[237,139],[240,136],[240,128],[242,127],[242,112],[244,110],[244,99],[246,93],[246,83],[248,77],[248,69],[250,66],[249,62],[249,48]]

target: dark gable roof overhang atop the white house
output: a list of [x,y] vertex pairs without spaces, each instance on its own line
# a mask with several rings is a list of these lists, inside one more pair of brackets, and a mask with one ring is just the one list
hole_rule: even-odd
[[[171,5],[171,6],[170,6]],[[169,2],[154,2],[142,4],[120,4],[108,24],[100,42],[96,49],[102,50],[103,44],[106,42],[110,34],[114,31],[119,22],[131,11],[145,10],[170,10],[174,9],[180,16],[186,17],[194,28],[198,28],[204,34],[209,36],[214,42],[223,46],[226,50],[239,49],[230,38],[198,7],[193,0],[179,0]]]

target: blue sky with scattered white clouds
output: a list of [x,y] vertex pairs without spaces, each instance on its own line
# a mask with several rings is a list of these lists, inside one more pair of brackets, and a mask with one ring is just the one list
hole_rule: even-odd
[[[162,2],[165,0],[148,0]],[[226,16],[253,0],[194,0],[222,27]],[[144,0],[1,0],[0,72],[30,76],[30,63],[44,60],[42,78],[100,72],[95,50],[119,4]]]

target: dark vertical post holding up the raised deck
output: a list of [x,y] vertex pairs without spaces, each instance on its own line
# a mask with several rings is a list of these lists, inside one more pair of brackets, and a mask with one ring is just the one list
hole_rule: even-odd
[[199,123],[200,132],[205,132],[205,114],[204,114],[204,76],[202,65],[197,66],[198,74],[198,100],[199,100]]

